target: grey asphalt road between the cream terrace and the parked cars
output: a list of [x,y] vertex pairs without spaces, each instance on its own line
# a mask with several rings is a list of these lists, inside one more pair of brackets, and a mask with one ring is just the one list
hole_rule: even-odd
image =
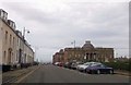
[[86,74],[55,65],[40,65],[20,83],[129,83],[129,76]]

